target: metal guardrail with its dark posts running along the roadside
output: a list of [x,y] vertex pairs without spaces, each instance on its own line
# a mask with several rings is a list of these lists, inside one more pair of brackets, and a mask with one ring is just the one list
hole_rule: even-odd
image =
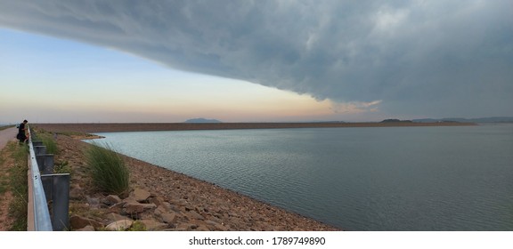
[[[31,134],[29,127],[28,134]],[[34,220],[34,224],[28,224],[28,228],[36,231],[69,229],[69,173],[53,173],[53,155],[46,154],[43,142],[33,142],[30,135],[28,148],[29,191],[32,193],[29,200],[32,203],[29,212],[32,213],[29,215],[32,214]],[[52,203],[52,212],[49,211],[48,201]]]

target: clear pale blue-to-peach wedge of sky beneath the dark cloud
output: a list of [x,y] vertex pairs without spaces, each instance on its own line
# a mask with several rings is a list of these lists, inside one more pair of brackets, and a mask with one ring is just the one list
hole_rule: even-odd
[[0,40],[3,123],[340,118],[330,100],[179,71],[126,52],[9,29],[0,29]]

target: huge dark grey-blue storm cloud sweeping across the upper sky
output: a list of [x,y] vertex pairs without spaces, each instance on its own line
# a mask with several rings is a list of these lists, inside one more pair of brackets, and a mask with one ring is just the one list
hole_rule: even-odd
[[513,4],[8,1],[0,25],[397,114],[513,115]]

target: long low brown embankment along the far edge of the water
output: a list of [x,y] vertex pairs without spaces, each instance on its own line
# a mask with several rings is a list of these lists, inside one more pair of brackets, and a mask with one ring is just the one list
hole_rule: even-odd
[[467,126],[475,123],[62,123],[33,124],[53,133],[115,133],[192,130],[285,129],[285,128],[342,128],[342,127],[410,127],[410,126]]

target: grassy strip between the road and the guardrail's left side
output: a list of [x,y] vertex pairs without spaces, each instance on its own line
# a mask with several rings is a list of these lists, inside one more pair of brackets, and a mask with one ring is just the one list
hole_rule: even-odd
[[9,142],[2,151],[0,164],[5,164],[4,157],[11,157],[14,164],[0,178],[0,192],[12,192],[12,202],[9,204],[9,215],[14,218],[10,230],[27,230],[28,205],[28,146],[19,146],[18,142]]

